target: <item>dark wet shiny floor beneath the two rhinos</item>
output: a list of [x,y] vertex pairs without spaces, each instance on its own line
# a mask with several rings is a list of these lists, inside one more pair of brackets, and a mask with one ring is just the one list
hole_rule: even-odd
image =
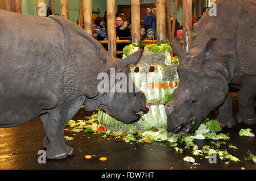
[[[238,106],[236,94],[232,94],[233,115],[236,116]],[[15,107],[14,107],[15,108]],[[256,110],[255,110],[256,111]],[[74,120],[83,119],[92,112],[80,110]],[[212,115],[214,116],[214,115]],[[0,169],[102,169],[102,170],[197,170],[197,169],[236,169],[256,170],[256,164],[245,161],[243,156],[247,150],[256,154],[256,138],[240,137],[238,132],[241,128],[249,128],[247,125],[237,124],[232,129],[223,129],[223,133],[229,133],[230,140],[226,144],[237,145],[239,149],[228,148],[228,152],[238,157],[241,162],[226,164],[217,159],[217,163],[210,164],[208,159],[196,157],[191,154],[191,149],[182,154],[177,153],[167,142],[152,142],[151,144],[133,144],[126,142],[115,142],[102,138],[102,134],[71,133],[64,135],[74,137],[68,141],[68,145],[75,150],[72,157],[62,160],[46,160],[39,164],[39,150],[43,150],[44,130],[39,117],[28,121],[28,123],[13,128],[0,128]],[[256,134],[256,125],[250,127]],[[199,146],[209,145],[210,140],[200,140],[195,143]],[[91,159],[85,159],[85,155],[94,155]],[[191,155],[199,165],[184,162],[183,158]],[[107,157],[105,162],[99,161],[100,157]]]

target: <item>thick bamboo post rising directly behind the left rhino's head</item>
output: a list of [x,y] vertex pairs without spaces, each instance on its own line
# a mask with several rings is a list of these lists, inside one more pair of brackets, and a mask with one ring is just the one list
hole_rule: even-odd
[[107,19],[108,19],[108,51],[112,57],[117,57],[117,33],[115,28],[115,0],[107,2]]

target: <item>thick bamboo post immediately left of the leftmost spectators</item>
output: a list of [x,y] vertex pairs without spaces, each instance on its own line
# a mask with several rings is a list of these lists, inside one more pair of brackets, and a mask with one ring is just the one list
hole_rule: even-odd
[[84,28],[92,35],[92,0],[83,0],[82,10],[84,12]]

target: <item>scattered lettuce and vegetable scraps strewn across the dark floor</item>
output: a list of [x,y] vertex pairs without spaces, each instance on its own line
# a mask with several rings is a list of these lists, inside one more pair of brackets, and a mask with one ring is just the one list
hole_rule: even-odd
[[[193,124],[193,123],[189,123]],[[189,127],[189,124],[186,127]],[[221,133],[220,124],[217,120],[205,119],[201,123],[200,127],[195,131],[195,133],[185,133],[180,131],[167,137],[167,131],[164,128],[157,129],[152,127],[151,129],[144,129],[142,131],[137,131],[132,124],[129,124],[129,131],[122,131],[118,129],[115,131],[102,125],[98,121],[98,114],[94,113],[90,117],[86,117],[85,120],[70,120],[67,124],[67,128],[64,131],[69,131],[73,133],[87,132],[92,134],[102,134],[102,137],[108,138],[108,140],[114,140],[117,142],[139,142],[142,144],[150,144],[151,142],[166,142],[170,143],[171,148],[177,151],[177,153],[183,153],[184,150],[190,149],[192,155],[200,158],[209,158],[211,155],[216,154],[221,161],[225,163],[229,162],[240,162],[241,159],[245,161],[253,161],[256,163],[256,155],[247,151],[244,158],[234,157],[232,154],[228,153],[226,148],[229,149],[239,149],[236,145],[227,145],[225,140],[230,140],[228,134]],[[251,129],[241,129],[238,133],[240,136],[250,136],[255,135],[251,133]],[[72,137],[64,136],[67,140],[72,140]],[[209,145],[204,145],[199,148],[195,144],[195,140],[212,140]],[[192,157],[185,157],[184,161],[194,162],[195,159]]]

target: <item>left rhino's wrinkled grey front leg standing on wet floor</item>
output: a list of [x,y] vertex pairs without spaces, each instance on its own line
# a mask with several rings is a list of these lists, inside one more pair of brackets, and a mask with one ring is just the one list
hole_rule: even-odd
[[67,103],[59,104],[49,113],[40,116],[46,136],[46,158],[61,159],[73,155],[73,149],[67,145],[64,138],[64,128],[70,119],[79,111],[85,101],[85,96],[80,96]]

